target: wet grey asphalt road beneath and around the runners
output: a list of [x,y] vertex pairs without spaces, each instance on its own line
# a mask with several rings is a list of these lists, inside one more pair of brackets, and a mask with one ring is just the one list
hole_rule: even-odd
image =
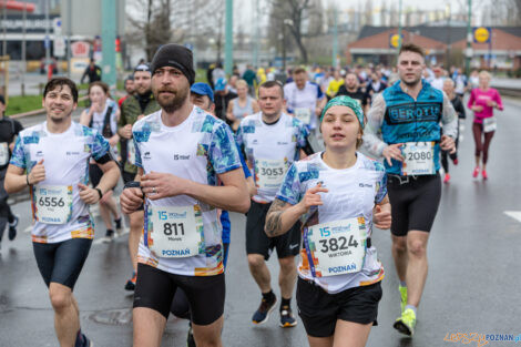
[[[458,346],[446,341],[447,334],[521,333],[518,317],[521,296],[518,276],[518,248],[521,222],[505,211],[520,211],[521,101],[505,101],[499,113],[498,131],[491,145],[489,180],[473,180],[473,141],[468,119],[462,132],[458,166],[451,166],[452,180],[443,185],[440,210],[429,241],[429,276],[412,338],[392,328],[399,314],[398,282],[390,254],[388,231],[375,231],[372,242],[386,268],[384,297],[379,306],[379,326],[374,327],[367,346]],[[28,202],[13,206],[20,216],[19,236],[2,242],[0,252],[0,347],[57,346],[52,309],[47,289],[37,269],[30,233]],[[302,322],[295,328],[278,327],[273,315],[263,326],[254,326],[251,316],[260,299],[249,275],[245,253],[245,217],[232,214],[232,247],[226,273],[227,296],[223,341],[225,346],[299,347],[307,346]],[[131,346],[132,295],[123,286],[131,274],[126,236],[111,244],[99,243],[104,234],[96,226],[95,244],[75,287],[81,325],[96,347]],[[518,245],[518,246],[517,246]],[[274,292],[277,262],[269,261]],[[296,304],[293,302],[294,310]],[[185,346],[187,323],[171,318],[162,346]],[[478,343],[469,341],[470,346]],[[487,346],[514,343],[493,341]]]

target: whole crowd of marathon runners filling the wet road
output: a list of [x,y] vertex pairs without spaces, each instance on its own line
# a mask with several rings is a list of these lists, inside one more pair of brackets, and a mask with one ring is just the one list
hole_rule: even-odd
[[[79,122],[78,86],[67,78],[47,83],[47,120],[28,129],[3,116],[0,98],[0,241],[6,228],[17,236],[8,194],[29,187],[59,345],[92,346],[73,289],[94,238],[94,204],[104,242],[129,225],[133,272],[121,288],[134,290],[134,346],[159,347],[171,314],[188,320],[187,346],[222,346],[229,212],[246,214],[258,286],[252,324],[276,312],[282,328],[295,327],[295,294],[309,346],[365,346],[384,265],[392,266],[378,259],[378,228],[390,229],[400,307],[395,322],[379,323],[412,336],[441,182],[451,180],[449,160],[458,164],[467,114],[476,141],[469,176],[488,178],[494,109],[503,108],[491,75],[428,68],[411,43],[392,69],[247,67],[226,76],[217,64],[208,83],[195,75],[192,52],[171,43],[135,67],[119,102],[92,82]],[[266,266],[274,249],[279,289]]]

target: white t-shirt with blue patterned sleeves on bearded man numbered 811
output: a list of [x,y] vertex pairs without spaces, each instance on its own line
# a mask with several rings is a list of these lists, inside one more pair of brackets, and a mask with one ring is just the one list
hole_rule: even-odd
[[[143,169],[144,174],[152,171],[168,173],[216,186],[218,174],[242,167],[232,132],[223,121],[197,106],[176,126],[164,125],[161,114],[162,111],[154,112],[132,127],[135,163]],[[212,276],[224,272],[222,226],[216,208],[187,195],[147,200],[145,205],[198,206],[203,226],[197,232],[203,235],[203,244],[200,254],[195,256],[160,257],[150,249],[150,235],[145,233],[139,248],[140,263],[185,276]]]

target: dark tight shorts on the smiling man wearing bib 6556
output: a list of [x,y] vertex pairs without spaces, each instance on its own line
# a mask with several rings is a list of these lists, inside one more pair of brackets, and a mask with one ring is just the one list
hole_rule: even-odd
[[52,244],[33,242],[34,257],[45,285],[49,287],[54,282],[72,290],[91,245],[92,239],[89,238],[71,238]]

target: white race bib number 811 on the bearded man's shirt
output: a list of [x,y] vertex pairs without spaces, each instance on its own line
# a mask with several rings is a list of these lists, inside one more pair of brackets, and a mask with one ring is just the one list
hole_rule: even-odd
[[163,258],[184,258],[204,252],[203,214],[198,205],[147,205],[145,233],[149,248]]

